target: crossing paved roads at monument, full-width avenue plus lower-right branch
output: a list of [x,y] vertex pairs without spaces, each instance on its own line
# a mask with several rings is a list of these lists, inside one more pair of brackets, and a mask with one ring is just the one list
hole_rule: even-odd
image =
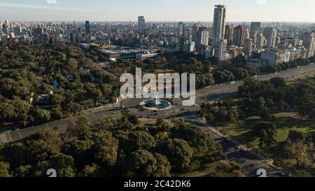
[[[256,76],[258,80],[269,80],[274,77],[281,77],[287,81],[295,80],[296,78],[302,78],[304,76],[309,76],[315,73],[315,66],[303,66],[303,68],[290,69],[288,71],[283,71],[281,73],[269,73],[265,75]],[[24,139],[27,136],[31,136],[32,134],[36,134],[40,129],[43,128],[57,128],[60,134],[65,134],[66,129],[69,126],[69,122],[73,118],[78,118],[79,116],[86,116],[92,122],[99,120],[101,118],[112,117],[112,118],[120,118],[120,111],[124,109],[130,109],[132,114],[137,115],[139,118],[146,118],[148,120],[164,118],[168,119],[171,116],[179,116],[186,118],[188,121],[193,122],[192,120],[196,120],[195,113],[198,110],[198,106],[200,106],[204,101],[209,100],[218,100],[224,94],[235,93],[238,90],[238,87],[242,85],[243,80],[237,81],[235,83],[230,84],[221,84],[215,85],[212,87],[207,87],[202,90],[196,90],[196,105],[195,106],[182,106],[181,99],[172,99],[174,102],[174,107],[167,111],[147,111],[138,109],[137,106],[144,99],[125,99],[120,102],[120,106],[118,108],[104,108],[98,109],[96,111],[90,110],[85,113],[78,115],[76,117],[66,118],[62,120],[56,120],[52,122],[48,122],[44,125],[38,125],[36,127],[29,127],[26,129],[18,129],[15,131],[7,131],[1,134],[0,129],[0,141],[3,143],[9,143],[11,141],[18,141],[20,139]],[[195,121],[196,122],[196,121]],[[209,135],[214,138],[218,143],[221,143],[223,146],[223,151],[225,155],[227,155],[228,160],[237,160],[242,163],[246,176],[257,176],[256,172],[258,169],[265,169],[267,171],[268,176],[283,176],[281,171],[275,169],[270,164],[266,162],[266,160],[253,153],[253,152],[240,152],[235,149],[238,143],[235,141],[226,141],[224,137],[219,136],[218,132],[215,132],[209,125],[200,124],[198,125],[205,129]]]

